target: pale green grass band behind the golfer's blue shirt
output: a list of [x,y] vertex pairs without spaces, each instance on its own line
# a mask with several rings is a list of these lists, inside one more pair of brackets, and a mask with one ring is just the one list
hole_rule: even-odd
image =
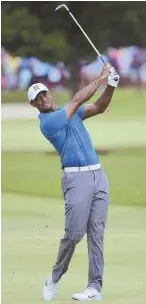
[[[107,120],[105,114],[87,119],[85,126],[96,148],[146,147],[144,118]],[[2,121],[2,149],[17,152],[54,151],[53,146],[41,134],[37,119]]]

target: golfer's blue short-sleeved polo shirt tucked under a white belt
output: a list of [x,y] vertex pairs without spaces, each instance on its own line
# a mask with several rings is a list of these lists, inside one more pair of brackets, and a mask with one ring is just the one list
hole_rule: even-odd
[[68,120],[64,107],[40,113],[40,130],[60,155],[62,168],[95,165],[98,156],[82,122],[84,106]]

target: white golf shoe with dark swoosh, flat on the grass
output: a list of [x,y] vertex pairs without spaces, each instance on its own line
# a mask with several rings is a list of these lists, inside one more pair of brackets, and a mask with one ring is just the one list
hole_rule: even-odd
[[98,292],[93,287],[88,287],[85,290],[83,290],[81,293],[75,293],[72,295],[72,298],[74,300],[78,301],[86,301],[86,300],[102,300],[102,295],[100,292]]

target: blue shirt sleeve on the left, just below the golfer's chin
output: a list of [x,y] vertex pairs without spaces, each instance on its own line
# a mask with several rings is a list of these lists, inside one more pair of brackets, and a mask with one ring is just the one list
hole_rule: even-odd
[[45,117],[43,127],[49,135],[53,135],[68,125],[68,118],[64,107]]

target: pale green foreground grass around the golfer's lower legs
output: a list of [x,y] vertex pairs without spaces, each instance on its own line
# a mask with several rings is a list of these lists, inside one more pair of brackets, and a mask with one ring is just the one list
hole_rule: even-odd
[[[145,304],[146,209],[109,206],[104,304]],[[46,227],[47,226],[47,227]],[[64,229],[63,200],[2,195],[2,303],[39,304]],[[86,238],[78,244],[54,304],[86,287]]]

